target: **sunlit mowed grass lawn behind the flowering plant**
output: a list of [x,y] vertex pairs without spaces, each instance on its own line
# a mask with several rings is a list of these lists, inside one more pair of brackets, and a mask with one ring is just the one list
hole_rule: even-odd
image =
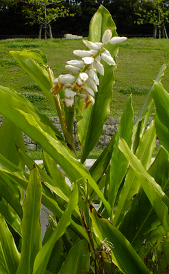
[[[167,39],[129,38],[119,45],[114,98],[109,116],[121,116],[129,94],[132,92],[133,109],[137,116],[142,108],[146,94],[157,76],[162,64],[169,62],[169,42]],[[21,69],[9,51],[40,49],[47,55],[48,63],[55,77],[68,73],[64,68],[67,60],[75,59],[74,49],[86,49],[81,39],[78,40],[38,40],[13,39],[0,40],[0,85],[8,86],[23,93],[37,108],[49,116],[56,115],[55,110],[34,81]],[[166,69],[162,79],[168,90],[169,71]],[[39,99],[38,99],[39,95]],[[153,110],[154,112],[154,110]]]

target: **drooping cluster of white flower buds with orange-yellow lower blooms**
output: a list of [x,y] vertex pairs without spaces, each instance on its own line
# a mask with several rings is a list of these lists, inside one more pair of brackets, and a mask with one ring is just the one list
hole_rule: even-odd
[[[71,107],[74,103],[74,97],[81,97],[86,101],[85,108],[89,105],[94,104],[94,92],[97,92],[97,86],[99,85],[99,78],[97,77],[95,71],[98,71],[101,75],[104,75],[104,67],[101,64],[101,59],[103,59],[110,66],[116,66],[114,58],[107,49],[105,49],[106,44],[118,44],[119,42],[125,41],[126,37],[113,37],[111,29],[107,29],[102,37],[102,42],[90,42],[88,40],[83,40],[83,43],[90,49],[85,50],[75,50],[73,53],[82,60],[70,60],[66,62],[66,69],[73,73],[79,73],[77,79],[71,75],[60,75],[57,79],[53,81],[53,88],[51,92],[56,95],[64,88],[64,100],[62,101],[67,107]],[[86,83],[85,86],[83,84]]]

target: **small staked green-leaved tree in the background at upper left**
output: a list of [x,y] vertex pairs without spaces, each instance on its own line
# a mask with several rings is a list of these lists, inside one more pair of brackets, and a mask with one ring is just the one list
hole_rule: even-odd
[[39,37],[41,38],[42,28],[44,28],[44,39],[49,34],[53,38],[51,32],[51,22],[55,21],[58,17],[73,16],[69,14],[60,0],[27,0],[26,5],[23,6],[23,12],[29,18],[29,24],[33,25],[38,23],[40,25]]

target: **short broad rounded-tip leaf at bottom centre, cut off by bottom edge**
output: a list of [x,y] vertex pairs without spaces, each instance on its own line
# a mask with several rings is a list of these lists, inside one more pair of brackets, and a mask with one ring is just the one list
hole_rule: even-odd
[[90,269],[90,251],[86,240],[79,240],[68,252],[58,274],[83,274]]

